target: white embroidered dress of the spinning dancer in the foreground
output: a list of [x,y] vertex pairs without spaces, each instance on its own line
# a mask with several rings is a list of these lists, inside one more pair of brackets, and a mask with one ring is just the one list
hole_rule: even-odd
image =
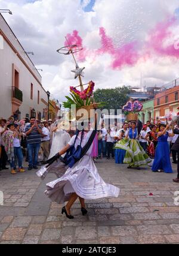
[[[85,134],[81,146],[87,143],[91,131]],[[75,148],[80,144],[81,134],[76,139]],[[73,145],[75,135],[68,144]],[[84,199],[97,199],[102,197],[118,197],[119,188],[105,183],[98,174],[97,168],[90,156],[92,145],[86,155],[84,155],[72,168],[68,168],[60,178],[47,183],[45,195],[52,201],[64,203],[68,201],[73,192]]]

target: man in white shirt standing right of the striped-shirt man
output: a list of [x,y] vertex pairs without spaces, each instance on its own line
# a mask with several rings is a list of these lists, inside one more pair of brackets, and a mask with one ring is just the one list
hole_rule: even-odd
[[44,151],[44,161],[48,159],[50,155],[50,131],[48,129],[48,124],[46,123],[42,128],[42,139],[41,147]]

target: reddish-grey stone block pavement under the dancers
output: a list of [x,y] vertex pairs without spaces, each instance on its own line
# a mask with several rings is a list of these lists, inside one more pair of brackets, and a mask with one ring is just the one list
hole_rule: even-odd
[[[88,200],[88,215],[82,216],[79,201],[69,220],[61,205],[45,197],[48,174],[39,179],[35,170],[18,173],[1,171],[0,243],[179,243],[179,206],[172,182],[174,173],[152,173],[150,167],[129,170],[113,160],[98,160],[98,171],[106,182],[119,186],[118,198]],[[179,200],[178,200],[179,201]]]

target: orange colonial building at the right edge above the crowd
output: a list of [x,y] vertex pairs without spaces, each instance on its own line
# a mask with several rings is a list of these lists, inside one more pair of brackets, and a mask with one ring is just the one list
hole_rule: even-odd
[[[177,80],[175,80],[177,81]],[[172,88],[163,88],[154,99],[154,118],[164,117],[170,111],[177,113],[179,107],[179,85],[175,83]]]

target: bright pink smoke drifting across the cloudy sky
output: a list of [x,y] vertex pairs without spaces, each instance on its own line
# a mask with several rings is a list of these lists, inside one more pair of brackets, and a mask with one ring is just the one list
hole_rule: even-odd
[[[113,39],[106,35],[106,30],[99,29],[101,47],[96,50],[90,50],[84,47],[81,52],[75,54],[78,61],[85,61],[88,56],[97,58],[99,55],[109,54],[112,62],[110,64],[113,70],[121,69],[124,66],[133,66],[138,61],[147,61],[152,56],[168,56],[179,58],[179,51],[174,47],[174,37],[171,28],[177,25],[177,18],[170,17],[165,22],[158,23],[155,28],[149,31],[147,40],[131,41],[121,47],[116,47]],[[67,34],[67,44],[77,44],[82,46],[82,38],[79,32],[74,30],[72,34]],[[167,43],[170,42],[170,43]]]

